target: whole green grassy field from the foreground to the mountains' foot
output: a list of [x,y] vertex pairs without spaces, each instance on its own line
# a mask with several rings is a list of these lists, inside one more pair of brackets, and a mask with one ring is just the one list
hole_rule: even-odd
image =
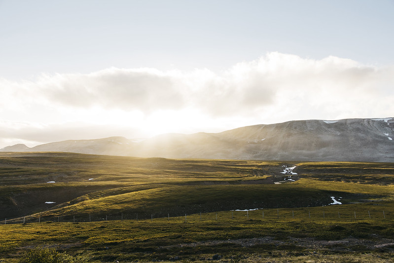
[[393,262],[393,179],[393,163],[2,153],[0,262],[37,245],[87,262]]

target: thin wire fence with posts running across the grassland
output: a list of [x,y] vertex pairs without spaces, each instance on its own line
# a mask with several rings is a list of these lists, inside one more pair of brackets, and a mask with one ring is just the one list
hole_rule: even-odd
[[223,221],[223,220],[335,220],[335,221],[357,221],[357,220],[385,220],[394,219],[394,211],[392,210],[289,210],[289,209],[258,209],[248,211],[220,211],[198,214],[182,214],[170,215],[167,213],[92,213],[92,214],[78,214],[78,215],[59,215],[59,216],[26,216],[3,221],[1,225],[7,224],[28,224],[28,223],[44,223],[44,222],[71,222],[71,223],[91,223],[103,221],[154,221],[154,220],[168,220],[181,222],[195,222],[195,221]]

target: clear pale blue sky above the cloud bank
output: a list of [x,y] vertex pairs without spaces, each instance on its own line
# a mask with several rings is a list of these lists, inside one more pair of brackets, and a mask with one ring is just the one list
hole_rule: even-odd
[[0,76],[225,70],[267,52],[394,61],[393,0],[0,0]]

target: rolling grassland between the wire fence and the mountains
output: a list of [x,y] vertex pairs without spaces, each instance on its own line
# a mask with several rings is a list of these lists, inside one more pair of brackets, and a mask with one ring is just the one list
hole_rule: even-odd
[[393,175],[393,163],[2,153],[0,218],[35,213],[84,219],[100,213],[165,217],[322,206],[332,202],[331,196],[351,203],[391,196]]

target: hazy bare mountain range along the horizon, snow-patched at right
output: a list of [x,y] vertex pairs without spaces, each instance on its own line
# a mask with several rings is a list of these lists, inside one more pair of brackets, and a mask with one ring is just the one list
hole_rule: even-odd
[[394,162],[394,118],[295,120],[220,133],[69,140],[0,151],[65,151],[137,157]]

